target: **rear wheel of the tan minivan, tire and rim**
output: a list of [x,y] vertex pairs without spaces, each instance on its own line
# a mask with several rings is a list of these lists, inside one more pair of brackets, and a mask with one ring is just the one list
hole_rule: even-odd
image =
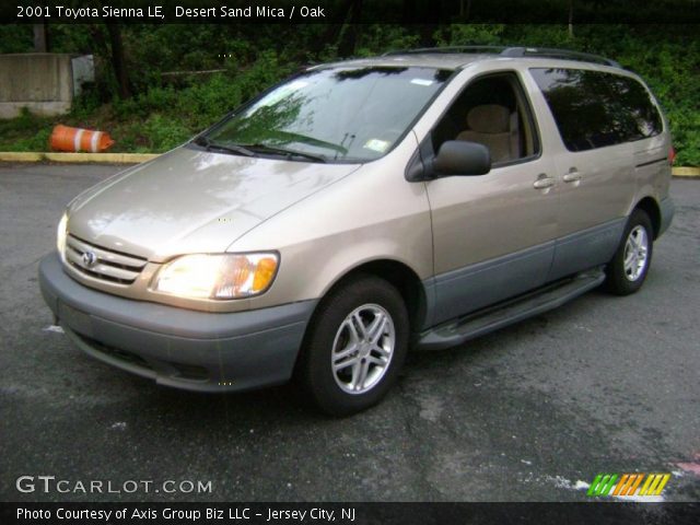
[[[606,268],[606,288],[616,295],[637,292],[646,279],[652,262],[654,230],[646,212],[632,212],[615,257]],[[627,259],[627,264],[626,264]]]

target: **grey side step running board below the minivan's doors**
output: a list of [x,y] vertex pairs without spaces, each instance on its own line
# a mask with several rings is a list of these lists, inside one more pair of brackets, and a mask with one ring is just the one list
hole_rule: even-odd
[[517,323],[563,303],[598,287],[605,280],[603,269],[580,273],[573,279],[550,284],[502,305],[450,320],[418,335],[418,350],[442,350],[482,336],[506,325]]

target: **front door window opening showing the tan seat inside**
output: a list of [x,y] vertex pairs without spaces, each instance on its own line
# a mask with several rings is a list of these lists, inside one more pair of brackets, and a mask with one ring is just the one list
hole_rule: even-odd
[[486,145],[497,166],[538,155],[533,113],[516,74],[489,74],[470,82],[433,129],[433,151],[447,140]]

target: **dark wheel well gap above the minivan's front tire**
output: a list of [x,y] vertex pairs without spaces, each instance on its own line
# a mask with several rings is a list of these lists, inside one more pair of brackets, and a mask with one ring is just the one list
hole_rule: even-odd
[[376,276],[396,287],[406,303],[411,330],[420,329],[425,318],[428,300],[420,278],[412,269],[396,260],[372,260],[353,268],[342,276],[327,293],[330,293],[334,289],[342,285],[348,279],[359,273]]

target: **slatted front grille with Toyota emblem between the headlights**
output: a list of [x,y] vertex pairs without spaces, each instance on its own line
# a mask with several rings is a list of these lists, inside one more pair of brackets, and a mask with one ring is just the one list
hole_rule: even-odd
[[84,276],[118,284],[131,284],[148,262],[142,257],[95,246],[74,235],[66,240],[66,261]]

